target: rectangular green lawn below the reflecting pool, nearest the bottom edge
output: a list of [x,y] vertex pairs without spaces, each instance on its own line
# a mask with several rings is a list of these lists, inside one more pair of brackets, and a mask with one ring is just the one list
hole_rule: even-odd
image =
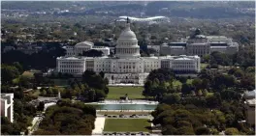
[[148,132],[148,119],[106,119],[104,131],[110,132]]

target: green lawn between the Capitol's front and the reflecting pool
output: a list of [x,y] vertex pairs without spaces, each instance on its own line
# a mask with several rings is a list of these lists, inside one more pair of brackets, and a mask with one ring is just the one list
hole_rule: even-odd
[[120,96],[128,94],[130,99],[144,98],[144,87],[109,87],[110,92],[107,99],[119,99]]

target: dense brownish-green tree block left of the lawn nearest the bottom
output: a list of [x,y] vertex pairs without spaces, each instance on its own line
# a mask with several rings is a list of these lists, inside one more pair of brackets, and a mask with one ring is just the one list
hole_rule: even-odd
[[94,129],[96,110],[82,102],[58,101],[46,111],[35,135],[90,135]]

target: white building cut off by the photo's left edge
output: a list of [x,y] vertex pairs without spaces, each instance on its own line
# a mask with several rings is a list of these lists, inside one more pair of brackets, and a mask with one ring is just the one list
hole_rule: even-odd
[[1,116],[14,122],[14,94],[1,94]]

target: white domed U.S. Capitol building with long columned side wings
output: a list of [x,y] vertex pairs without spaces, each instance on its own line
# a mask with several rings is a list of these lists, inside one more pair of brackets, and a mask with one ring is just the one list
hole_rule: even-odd
[[[141,57],[140,46],[136,35],[130,29],[130,22],[120,34],[116,42],[114,57],[80,57],[77,51],[85,50],[93,44],[83,41],[69,49],[67,56],[57,58],[57,72],[82,74],[86,69],[95,72],[105,72],[110,84],[140,84],[143,85],[146,76],[153,69],[172,68],[176,73],[200,72],[199,56],[161,56]],[[80,49],[77,49],[80,48]],[[92,47],[91,47],[92,48]],[[73,56],[70,52],[73,52]]]

